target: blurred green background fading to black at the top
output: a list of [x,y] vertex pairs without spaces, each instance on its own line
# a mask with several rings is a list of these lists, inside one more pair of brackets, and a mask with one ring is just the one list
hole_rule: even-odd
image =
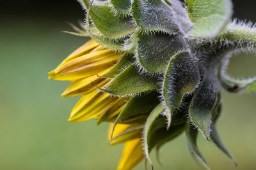
[[[256,3],[234,1],[234,15],[256,21]],[[47,80],[70,52],[86,38],[60,32],[71,30],[83,11],[72,1],[3,1],[0,11],[0,169],[115,169],[122,145],[108,146],[108,124],[95,120],[67,122],[79,97],[61,98],[68,83]],[[228,73],[256,73],[256,57],[236,55]],[[198,145],[212,169],[256,169],[256,94],[224,92],[220,136],[236,157],[225,155],[200,136]],[[184,134],[160,150],[163,166],[155,169],[200,169],[189,155]],[[144,169],[143,163],[135,169]]]

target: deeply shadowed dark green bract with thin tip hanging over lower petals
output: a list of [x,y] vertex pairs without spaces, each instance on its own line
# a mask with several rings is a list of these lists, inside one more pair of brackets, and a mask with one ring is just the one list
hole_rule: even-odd
[[151,92],[144,94],[143,96],[132,97],[116,118],[113,132],[116,124],[120,122],[124,122],[125,120],[129,120],[131,118],[136,118],[140,115],[148,115],[148,113],[150,113],[150,111],[152,111],[154,107],[159,104],[158,96],[159,94],[157,92]]

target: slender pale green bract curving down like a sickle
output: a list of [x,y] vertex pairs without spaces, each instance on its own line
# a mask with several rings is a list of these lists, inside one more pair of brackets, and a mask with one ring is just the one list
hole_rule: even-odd
[[[144,143],[144,151],[145,151],[145,157],[150,162],[151,167],[153,167],[152,161],[150,160],[149,157],[149,150],[148,150],[148,138],[150,134],[150,130],[152,125],[154,124],[155,120],[159,115],[164,111],[164,106],[163,104],[158,104],[154,110],[150,113],[150,115],[147,118],[147,121],[145,123],[145,127],[143,130],[143,143]],[[158,138],[158,137],[157,137]]]

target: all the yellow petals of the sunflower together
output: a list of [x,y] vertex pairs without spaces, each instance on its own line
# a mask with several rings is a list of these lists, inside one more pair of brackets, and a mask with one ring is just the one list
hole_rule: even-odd
[[[104,88],[111,78],[102,77],[120,60],[123,53],[108,50],[93,40],[77,48],[49,73],[54,80],[68,80],[72,83],[67,87],[62,97],[82,96],[71,111],[68,121],[82,122],[92,118],[101,122],[113,122],[123,110],[129,97],[115,97],[97,89]],[[143,158],[141,143],[142,126],[140,124],[117,124],[113,139],[109,127],[109,145],[125,143],[123,156],[118,169],[132,169]],[[134,130],[134,127],[137,129]],[[111,130],[110,130],[111,129]],[[129,129],[133,129],[131,132]]]

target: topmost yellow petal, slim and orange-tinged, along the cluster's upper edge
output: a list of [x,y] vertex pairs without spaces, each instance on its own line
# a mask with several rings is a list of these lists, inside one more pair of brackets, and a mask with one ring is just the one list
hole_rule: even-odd
[[63,66],[70,60],[76,59],[77,57],[81,57],[82,55],[92,52],[92,50],[94,50],[98,46],[102,47],[101,45],[93,41],[93,39],[90,39],[84,45],[80,46],[74,52],[70,53],[70,55],[68,55],[68,57],[63,60],[58,67]]

